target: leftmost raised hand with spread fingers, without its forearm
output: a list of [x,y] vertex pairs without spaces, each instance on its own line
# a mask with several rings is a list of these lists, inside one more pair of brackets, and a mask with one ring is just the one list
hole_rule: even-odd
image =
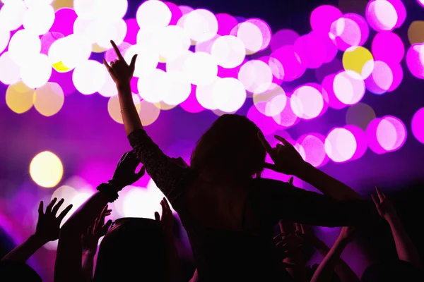
[[56,201],[57,198],[54,198],[52,202],[47,205],[46,212],[44,212],[44,203],[42,201],[38,207],[38,222],[34,235],[45,243],[59,238],[60,223],[66,214],[68,214],[72,209],[72,204],[69,204],[69,206],[59,214],[59,216],[56,216],[57,211],[64,203],[64,199],[61,199],[57,202],[57,204]]

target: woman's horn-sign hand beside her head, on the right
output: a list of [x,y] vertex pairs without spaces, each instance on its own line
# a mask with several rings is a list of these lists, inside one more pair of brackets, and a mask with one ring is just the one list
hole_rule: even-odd
[[275,148],[269,145],[264,135],[258,133],[259,140],[266,149],[266,152],[271,157],[274,164],[264,164],[264,168],[269,168],[273,171],[284,173],[287,175],[296,175],[306,164],[299,152],[283,137],[275,135],[276,139],[281,142]]

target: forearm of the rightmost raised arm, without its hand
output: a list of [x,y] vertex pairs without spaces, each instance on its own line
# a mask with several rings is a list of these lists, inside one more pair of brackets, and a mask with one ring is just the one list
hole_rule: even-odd
[[387,222],[389,223],[391,233],[393,234],[399,259],[405,262],[410,262],[417,267],[422,267],[416,247],[413,245],[408,233],[406,233],[404,226],[402,226],[399,217],[396,215],[391,216],[387,219]]

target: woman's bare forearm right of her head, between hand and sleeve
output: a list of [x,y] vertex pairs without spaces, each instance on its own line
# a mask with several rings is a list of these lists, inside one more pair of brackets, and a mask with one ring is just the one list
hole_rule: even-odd
[[317,188],[324,195],[336,201],[363,200],[363,198],[348,185],[332,178],[314,166],[305,163],[296,177]]

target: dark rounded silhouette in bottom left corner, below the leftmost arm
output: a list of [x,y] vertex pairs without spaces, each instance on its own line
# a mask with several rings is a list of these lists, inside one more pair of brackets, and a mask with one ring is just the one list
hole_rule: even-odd
[[0,262],[0,281],[42,282],[40,275],[23,262]]

